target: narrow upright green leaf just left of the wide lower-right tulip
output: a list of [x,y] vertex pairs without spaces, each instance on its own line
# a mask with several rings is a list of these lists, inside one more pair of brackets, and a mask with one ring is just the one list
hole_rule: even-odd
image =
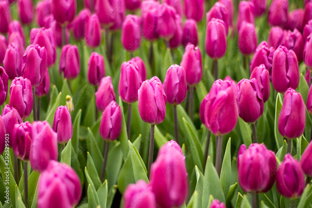
[[227,148],[225,149],[224,157],[223,157],[223,163],[222,163],[222,169],[220,174],[220,184],[222,187],[222,191],[224,196],[227,196],[227,193],[230,188],[231,183],[231,138],[229,138],[227,142]]

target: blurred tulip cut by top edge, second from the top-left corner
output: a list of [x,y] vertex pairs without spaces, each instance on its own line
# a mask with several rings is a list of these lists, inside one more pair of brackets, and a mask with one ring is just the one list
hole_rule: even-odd
[[22,23],[32,23],[32,17],[34,13],[32,0],[18,0],[17,11]]

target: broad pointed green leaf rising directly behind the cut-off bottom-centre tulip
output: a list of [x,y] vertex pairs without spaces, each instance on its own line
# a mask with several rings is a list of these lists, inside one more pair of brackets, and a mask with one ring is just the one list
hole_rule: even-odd
[[139,155],[138,150],[130,141],[128,141],[128,143],[128,157],[126,158],[124,165],[121,168],[118,178],[118,188],[122,194],[130,183],[136,183],[140,179],[149,182],[146,167],[141,156]]

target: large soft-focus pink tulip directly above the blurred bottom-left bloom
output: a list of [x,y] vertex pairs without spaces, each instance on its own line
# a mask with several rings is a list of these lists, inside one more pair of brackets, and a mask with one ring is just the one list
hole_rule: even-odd
[[30,165],[37,172],[42,172],[50,160],[57,160],[57,133],[46,121],[35,121],[32,124],[32,150]]

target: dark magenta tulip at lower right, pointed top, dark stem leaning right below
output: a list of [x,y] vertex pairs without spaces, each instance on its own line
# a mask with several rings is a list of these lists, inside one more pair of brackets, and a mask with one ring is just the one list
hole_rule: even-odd
[[290,154],[286,154],[284,162],[276,173],[277,191],[287,198],[298,198],[305,188],[305,175],[300,164]]

